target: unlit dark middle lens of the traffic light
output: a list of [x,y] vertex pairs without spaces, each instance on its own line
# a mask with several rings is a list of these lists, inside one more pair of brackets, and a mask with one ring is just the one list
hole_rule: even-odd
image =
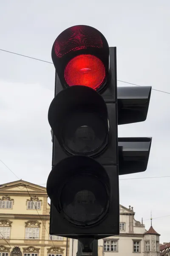
[[91,154],[106,142],[106,127],[96,113],[74,113],[66,119],[62,130],[65,148],[77,154]]

